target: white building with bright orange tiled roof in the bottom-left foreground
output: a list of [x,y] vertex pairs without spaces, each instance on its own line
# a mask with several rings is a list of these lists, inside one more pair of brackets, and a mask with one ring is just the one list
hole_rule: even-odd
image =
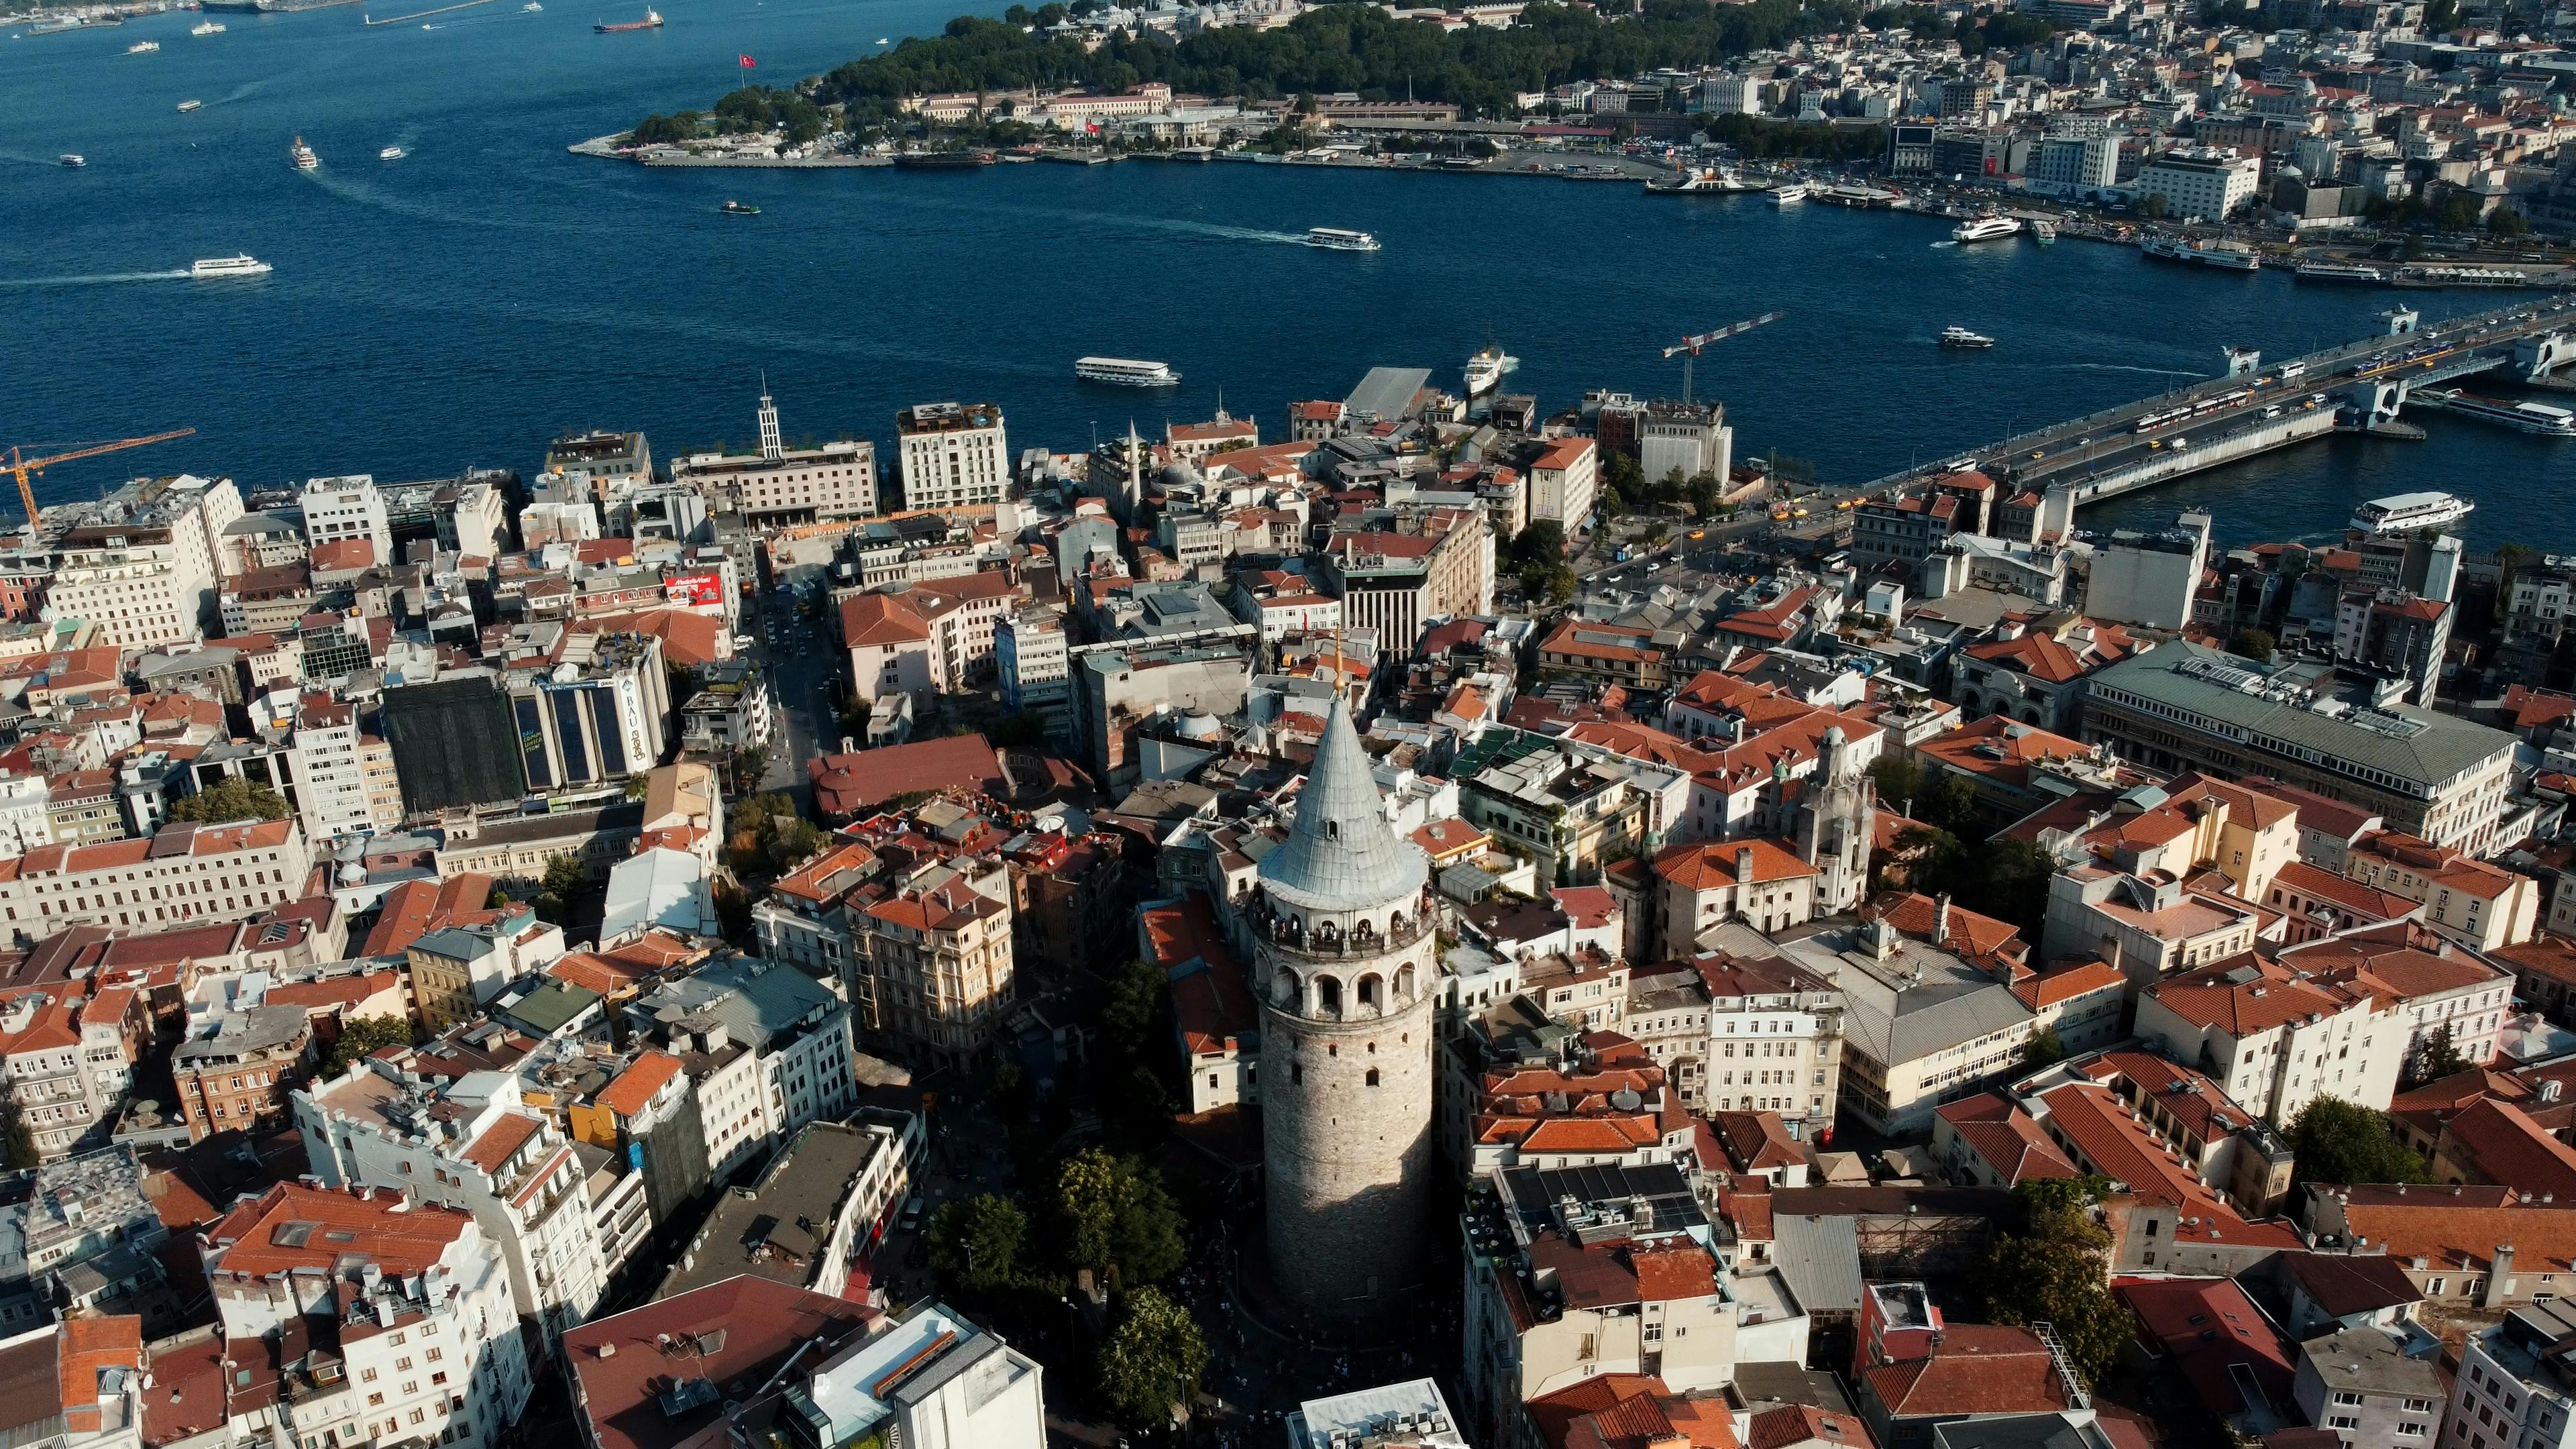
[[474,1217],[399,1194],[278,1183],[209,1227],[204,1256],[224,1338],[299,1354],[278,1369],[304,1392],[276,1395],[265,1444],[489,1449],[515,1439],[528,1351],[510,1274]]

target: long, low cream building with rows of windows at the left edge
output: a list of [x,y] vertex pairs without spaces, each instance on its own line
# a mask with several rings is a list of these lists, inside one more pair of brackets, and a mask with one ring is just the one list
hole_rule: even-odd
[[0,931],[240,920],[304,895],[312,851],[294,820],[162,825],[149,841],[41,846],[0,861]]

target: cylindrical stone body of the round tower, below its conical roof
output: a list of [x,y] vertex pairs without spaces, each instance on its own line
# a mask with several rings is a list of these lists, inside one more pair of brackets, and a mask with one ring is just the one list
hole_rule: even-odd
[[[1376,957],[1306,957],[1260,941],[1262,1158],[1270,1191],[1270,1276],[1309,1312],[1378,1307],[1419,1281],[1432,1142],[1432,1011],[1437,936]],[[1396,993],[1412,967],[1409,998]],[[1285,972],[1301,985],[1280,987]],[[1316,975],[1342,985],[1327,1018]],[[1381,1008],[1358,1000],[1378,975]],[[1370,1085],[1376,1073],[1376,1085]],[[1370,1297],[1376,1292],[1376,1299]]]

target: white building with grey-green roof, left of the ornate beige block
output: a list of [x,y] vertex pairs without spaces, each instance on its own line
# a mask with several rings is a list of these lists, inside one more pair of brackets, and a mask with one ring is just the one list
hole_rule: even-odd
[[698,1083],[716,1181],[809,1122],[858,1106],[850,1008],[814,977],[760,957],[724,957],[626,1006]]

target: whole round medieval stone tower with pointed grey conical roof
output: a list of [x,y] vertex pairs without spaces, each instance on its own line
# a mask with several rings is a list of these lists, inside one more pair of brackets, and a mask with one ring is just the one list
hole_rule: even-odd
[[1427,882],[1337,699],[1249,900],[1270,1276],[1309,1312],[1368,1310],[1422,1274],[1440,969]]

